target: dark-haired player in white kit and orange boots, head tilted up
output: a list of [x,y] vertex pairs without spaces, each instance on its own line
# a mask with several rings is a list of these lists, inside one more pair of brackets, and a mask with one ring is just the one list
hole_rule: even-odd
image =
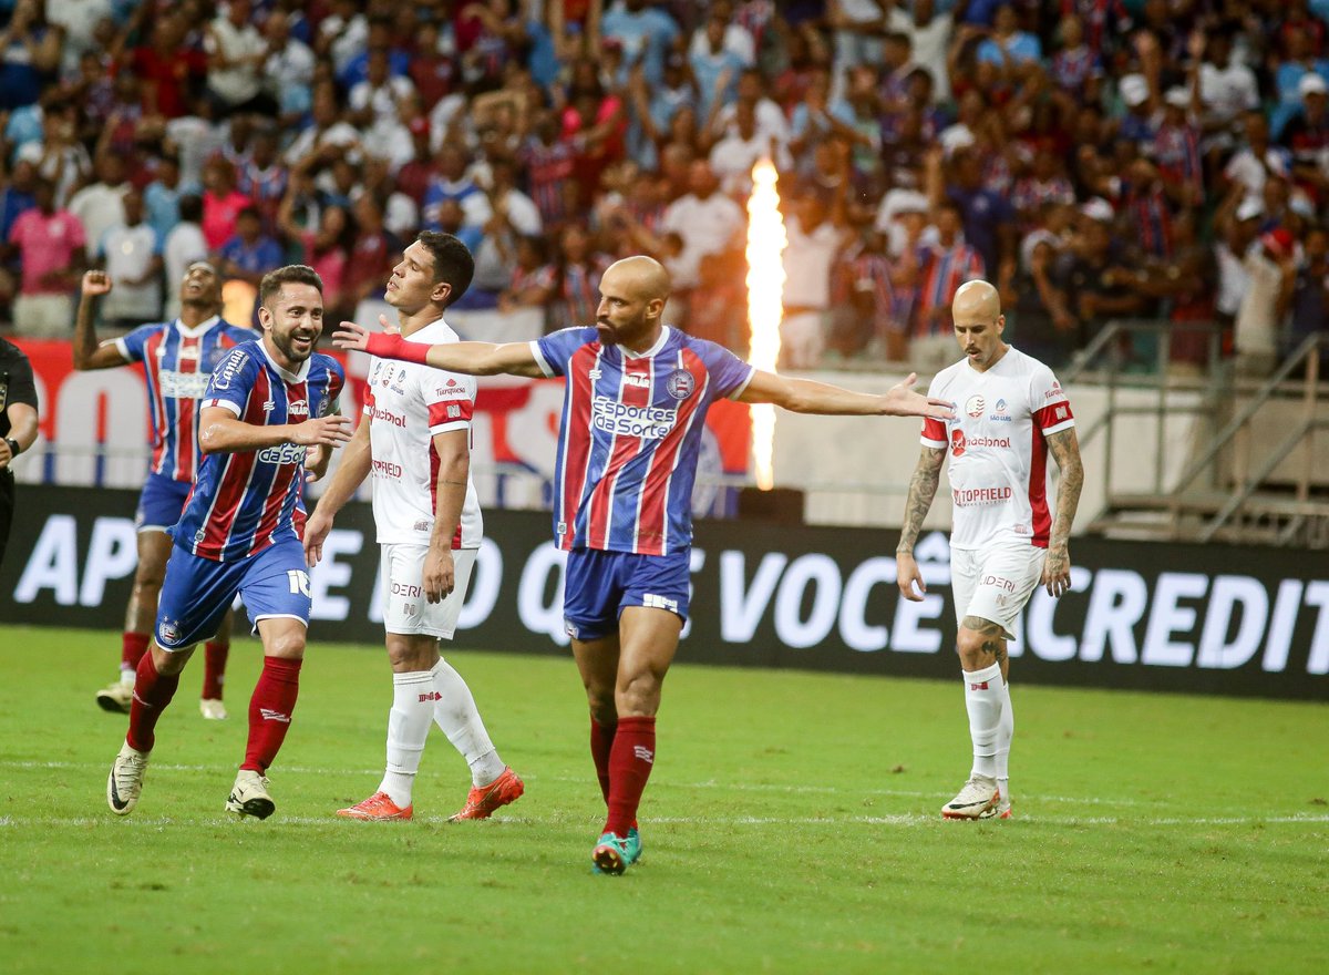
[[[474,261],[456,237],[420,234],[392,269],[385,291],[401,337],[425,345],[456,342],[443,311],[465,293],[473,273]],[[336,512],[372,474],[393,688],[387,770],[369,798],[338,815],[376,822],[412,817],[411,793],[431,720],[470,766],[472,789],[453,821],[485,819],[524,790],[490,742],[466,682],[439,656],[439,640],[451,640],[457,627],[484,531],[470,480],[474,399],[473,376],[373,359],[364,419],[304,527],[312,567]]]

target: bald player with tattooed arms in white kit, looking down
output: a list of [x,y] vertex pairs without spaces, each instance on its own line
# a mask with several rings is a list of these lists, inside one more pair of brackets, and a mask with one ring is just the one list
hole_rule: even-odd
[[[1015,732],[1006,641],[1014,638],[1015,621],[1037,585],[1051,596],[1070,588],[1067,539],[1084,474],[1061,383],[1038,359],[1002,342],[1006,319],[997,289],[986,281],[966,282],[956,291],[952,314],[965,358],[938,372],[928,395],[954,403],[956,416],[924,423],[922,456],[896,552],[897,577],[905,599],[922,599],[914,589],[926,587],[913,547],[949,451],[950,577],[974,765],[941,814],[1005,819]],[[1055,516],[1047,508],[1049,452],[1062,475]]]

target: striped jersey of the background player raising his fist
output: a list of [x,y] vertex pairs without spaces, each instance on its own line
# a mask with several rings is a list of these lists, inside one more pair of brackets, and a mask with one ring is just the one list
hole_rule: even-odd
[[138,363],[148,382],[153,474],[183,482],[198,476],[198,399],[221,358],[253,341],[253,331],[217,315],[193,329],[178,318],[144,325],[116,339],[120,354]]

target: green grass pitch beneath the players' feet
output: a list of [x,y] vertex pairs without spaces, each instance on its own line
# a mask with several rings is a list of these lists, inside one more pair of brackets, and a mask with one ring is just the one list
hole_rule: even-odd
[[[338,819],[377,785],[379,648],[315,632],[276,814],[222,811],[229,721],[194,660],[137,811],[106,809],[118,634],[0,628],[0,970],[20,972],[1321,972],[1329,709],[1019,685],[1015,818],[946,823],[960,681],[675,665],[646,854],[598,877],[602,802],[570,658],[456,650],[526,795],[451,826],[435,729],[411,823]],[[322,634],[322,636],[326,636]]]

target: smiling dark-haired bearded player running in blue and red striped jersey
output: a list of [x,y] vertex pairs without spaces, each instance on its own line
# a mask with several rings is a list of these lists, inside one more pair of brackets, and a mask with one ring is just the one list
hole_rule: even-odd
[[[117,815],[138,805],[162,710],[199,640],[207,640],[238,592],[263,640],[263,670],[249,709],[249,745],[226,809],[263,819],[275,803],[266,771],[291,725],[299,692],[310,577],[304,571],[306,470],[327,471],[331,450],[351,439],[336,414],[340,363],[314,351],[323,333],[323,282],[291,265],[259,285],[263,337],[230,350],[199,403],[203,463],[171,529],[154,641],[138,662],[129,734],[106,779]],[[306,464],[306,451],[315,456]]]

